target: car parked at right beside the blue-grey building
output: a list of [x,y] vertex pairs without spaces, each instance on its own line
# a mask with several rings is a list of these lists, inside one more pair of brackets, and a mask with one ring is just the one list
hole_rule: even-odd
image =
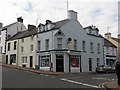
[[109,73],[109,72],[115,72],[115,67],[112,68],[111,66],[104,66],[100,65],[96,67],[96,72],[103,72],[103,73]]

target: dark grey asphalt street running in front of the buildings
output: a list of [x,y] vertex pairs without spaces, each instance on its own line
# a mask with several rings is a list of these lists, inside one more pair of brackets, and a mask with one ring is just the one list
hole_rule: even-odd
[[70,75],[35,74],[13,68],[2,68],[2,88],[98,88],[99,84],[116,80],[116,75],[79,73]]

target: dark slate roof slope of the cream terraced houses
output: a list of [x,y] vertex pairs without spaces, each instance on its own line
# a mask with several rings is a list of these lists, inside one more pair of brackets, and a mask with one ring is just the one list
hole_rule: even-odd
[[8,41],[29,37],[29,36],[35,35],[35,34],[37,34],[37,28],[34,28],[32,30],[26,30],[26,31],[18,32],[17,34],[15,34],[11,38],[9,38]]

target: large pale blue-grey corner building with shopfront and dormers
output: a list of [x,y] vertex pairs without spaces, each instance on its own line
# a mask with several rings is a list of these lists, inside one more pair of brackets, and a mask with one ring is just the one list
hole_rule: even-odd
[[[91,31],[92,33],[89,33]],[[93,33],[94,32],[94,33]],[[103,38],[96,27],[83,28],[77,12],[68,19],[38,26],[37,65],[53,72],[94,72],[103,64]]]

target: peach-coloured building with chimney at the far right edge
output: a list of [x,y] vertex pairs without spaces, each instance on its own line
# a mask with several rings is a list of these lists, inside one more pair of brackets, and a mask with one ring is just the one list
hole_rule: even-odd
[[117,49],[118,49],[118,52],[117,52],[118,59],[117,60],[120,60],[120,34],[118,34],[118,38],[114,38],[111,36],[111,33],[106,33],[105,38],[117,47]]

